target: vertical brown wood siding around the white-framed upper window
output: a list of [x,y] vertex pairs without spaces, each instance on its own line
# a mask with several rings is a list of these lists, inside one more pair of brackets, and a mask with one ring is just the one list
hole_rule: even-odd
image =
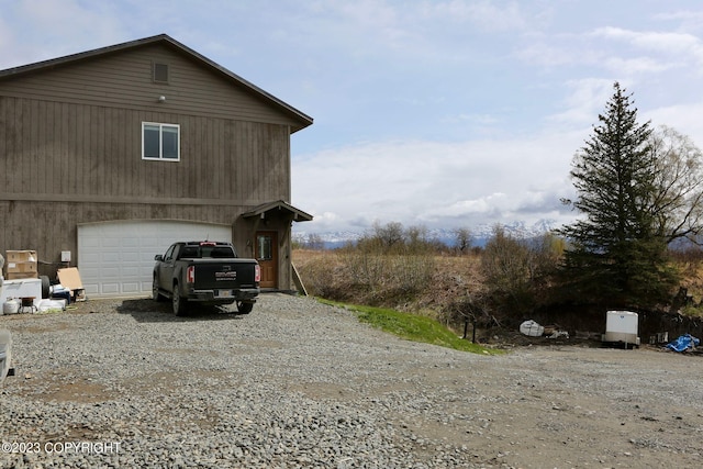
[[[142,159],[142,122],[180,161]],[[256,205],[290,199],[287,126],[0,96],[0,199]]]

